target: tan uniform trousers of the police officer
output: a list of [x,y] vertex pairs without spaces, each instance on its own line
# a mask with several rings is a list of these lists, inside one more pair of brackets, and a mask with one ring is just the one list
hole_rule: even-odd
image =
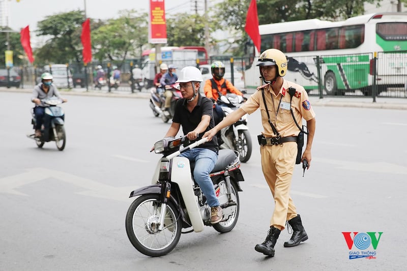
[[296,206],[289,196],[297,152],[297,142],[260,146],[261,168],[275,203],[270,226],[281,230],[286,220],[297,216]]

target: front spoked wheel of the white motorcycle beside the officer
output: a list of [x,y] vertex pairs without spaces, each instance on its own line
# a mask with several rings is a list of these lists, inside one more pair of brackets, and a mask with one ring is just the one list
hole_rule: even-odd
[[172,251],[181,236],[182,221],[174,204],[167,202],[164,227],[158,229],[161,203],[158,195],[142,195],[131,203],[126,231],[131,244],[142,254],[159,257]]

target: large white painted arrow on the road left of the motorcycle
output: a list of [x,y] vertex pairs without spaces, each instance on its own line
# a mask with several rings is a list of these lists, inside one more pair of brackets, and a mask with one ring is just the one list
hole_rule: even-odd
[[47,168],[31,168],[24,173],[0,178],[0,193],[27,196],[16,189],[48,178],[55,178],[62,182],[85,189],[85,191],[77,192],[75,194],[126,202],[129,201],[130,192],[138,188],[136,186],[113,187],[63,171]]

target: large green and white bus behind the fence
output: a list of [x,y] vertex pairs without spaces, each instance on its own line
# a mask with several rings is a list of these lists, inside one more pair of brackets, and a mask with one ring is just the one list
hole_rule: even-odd
[[[326,94],[337,95],[360,89],[369,95],[373,85],[373,58],[377,55],[376,85],[407,85],[407,13],[376,13],[344,21],[319,19],[259,25],[261,51],[276,48],[287,55],[285,79],[318,88],[318,72]],[[245,85],[263,84],[256,67],[259,52],[246,47]],[[316,57],[318,56],[318,58]],[[319,71],[317,69],[319,59]]]

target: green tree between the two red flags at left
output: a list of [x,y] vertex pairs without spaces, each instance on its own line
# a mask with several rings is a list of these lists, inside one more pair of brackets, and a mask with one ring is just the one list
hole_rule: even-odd
[[82,59],[80,33],[84,12],[81,10],[47,16],[38,22],[37,36],[51,38],[35,50],[38,62],[80,63]]

